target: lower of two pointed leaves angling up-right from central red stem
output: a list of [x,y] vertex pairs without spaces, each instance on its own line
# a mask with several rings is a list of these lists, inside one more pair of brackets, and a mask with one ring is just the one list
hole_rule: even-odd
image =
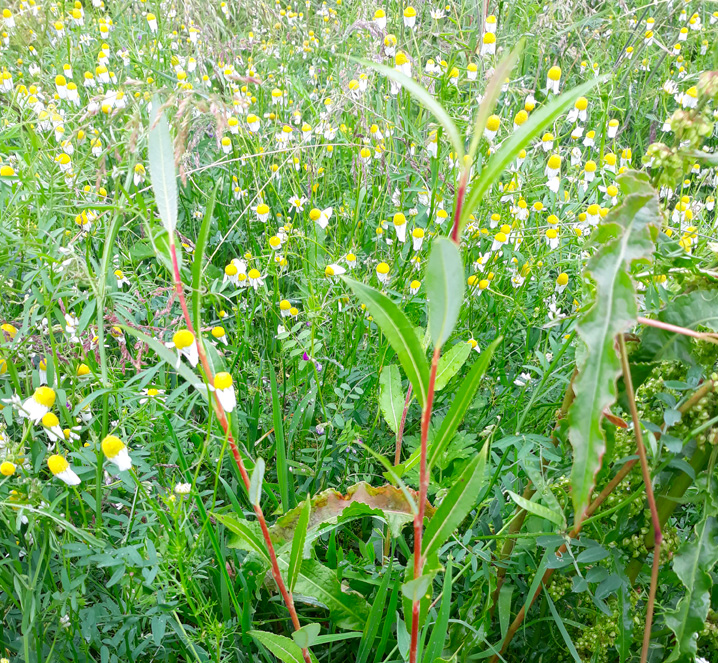
[[469,511],[476,506],[479,490],[484,483],[487,449],[488,444],[484,444],[481,452],[464,468],[426,526],[422,539],[424,556],[437,553]]

